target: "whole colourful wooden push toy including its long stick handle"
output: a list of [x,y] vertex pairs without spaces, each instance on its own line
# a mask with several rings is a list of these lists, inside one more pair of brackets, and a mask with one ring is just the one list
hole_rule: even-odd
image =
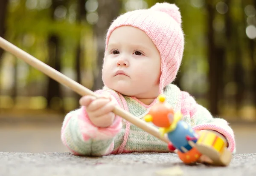
[[[99,98],[99,96],[90,89],[84,87],[73,79],[70,79],[64,74],[61,74],[59,71],[55,70],[44,62],[41,62],[12,43],[9,43],[2,37],[0,37],[0,47],[12,53],[17,58],[22,59],[32,67],[43,72],[60,84],[72,89],[77,94],[81,96],[92,95],[96,98]],[[221,140],[223,139],[217,133],[215,136],[212,136],[212,133],[205,133],[204,135],[201,134],[198,138],[198,133],[192,131],[185,122],[180,120],[181,114],[174,114],[172,108],[167,103],[163,103],[165,102],[163,96],[160,96],[159,99],[161,104],[157,103],[154,105],[149,113],[151,116],[147,116],[146,119],[147,121],[152,121],[156,126],[161,127],[160,132],[157,128],[149,125],[142,119],[138,119],[136,116],[133,116],[119,106],[114,108],[113,113],[157,137],[163,142],[166,142],[170,149],[177,148],[175,151],[179,155],[180,159],[185,163],[195,162],[196,159],[203,154],[209,156],[209,158],[212,159],[213,165],[229,164],[232,156],[230,156],[230,152],[225,147],[225,142],[221,143]],[[169,139],[163,135],[165,133],[168,133]],[[181,136],[186,136],[186,140],[180,140]],[[206,136],[206,138],[203,136]],[[218,141],[212,141],[212,137],[216,138],[216,136],[219,137]],[[170,143],[170,140],[174,142],[174,145]],[[221,147],[221,145],[223,146]]]

